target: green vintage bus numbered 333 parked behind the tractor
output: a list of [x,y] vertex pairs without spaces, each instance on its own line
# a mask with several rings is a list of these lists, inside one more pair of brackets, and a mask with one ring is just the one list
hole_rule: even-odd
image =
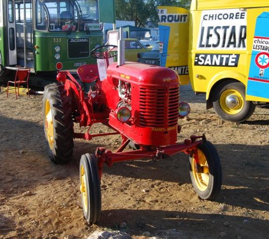
[[45,75],[96,63],[90,50],[103,43],[99,13],[105,7],[98,0],[0,0],[0,75],[19,67]]

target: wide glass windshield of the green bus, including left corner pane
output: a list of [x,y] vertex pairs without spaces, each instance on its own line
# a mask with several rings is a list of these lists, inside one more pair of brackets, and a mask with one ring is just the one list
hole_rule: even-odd
[[36,0],[38,30],[86,31],[88,23],[98,22],[97,0]]

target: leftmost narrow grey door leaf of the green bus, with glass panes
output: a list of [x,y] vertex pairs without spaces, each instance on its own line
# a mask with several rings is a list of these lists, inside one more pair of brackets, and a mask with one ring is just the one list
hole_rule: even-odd
[[7,0],[8,65],[17,64],[15,0]]

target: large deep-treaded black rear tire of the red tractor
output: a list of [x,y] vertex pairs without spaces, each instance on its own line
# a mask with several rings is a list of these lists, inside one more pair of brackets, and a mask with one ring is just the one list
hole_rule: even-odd
[[[53,122],[53,149],[50,149],[45,129],[45,102],[49,102]],[[43,96],[44,131],[47,144],[47,151],[54,163],[67,163],[73,154],[73,120],[70,99],[64,86],[60,83],[47,85]]]

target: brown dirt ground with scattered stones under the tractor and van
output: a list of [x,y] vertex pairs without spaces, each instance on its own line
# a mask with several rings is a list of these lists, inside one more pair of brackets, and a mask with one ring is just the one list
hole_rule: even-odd
[[[204,96],[190,87],[180,93],[192,111],[189,120],[180,120],[179,141],[205,132],[214,143],[223,167],[220,195],[214,201],[198,198],[185,154],[105,166],[101,220],[92,226],[81,208],[79,160],[100,145],[115,150],[120,136],[75,140],[72,161],[53,164],[45,147],[42,96],[15,100],[0,93],[0,238],[84,239],[112,229],[134,239],[146,239],[145,232],[169,239],[268,239],[269,110],[256,108],[244,124],[229,123],[206,111]],[[100,130],[108,129],[98,124],[92,132]],[[23,196],[26,191],[32,195]]]

